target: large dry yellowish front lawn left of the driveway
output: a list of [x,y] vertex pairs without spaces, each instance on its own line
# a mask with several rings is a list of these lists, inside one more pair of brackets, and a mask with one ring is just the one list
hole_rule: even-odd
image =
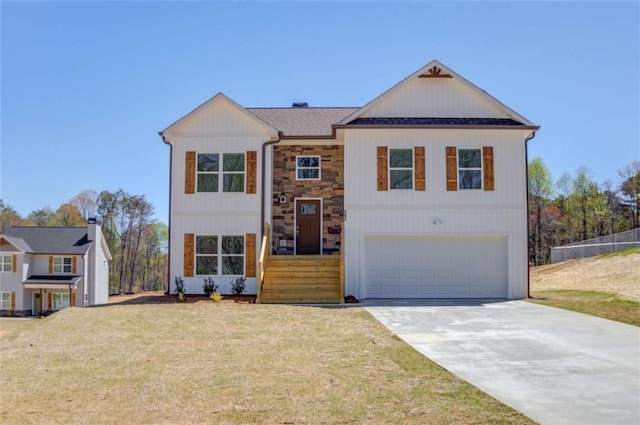
[[111,305],[17,332],[2,423],[532,423],[359,307]]

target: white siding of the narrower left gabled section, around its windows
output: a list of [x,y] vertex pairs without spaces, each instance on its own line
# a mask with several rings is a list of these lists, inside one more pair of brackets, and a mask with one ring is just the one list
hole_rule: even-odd
[[[206,112],[206,113],[201,113]],[[171,164],[171,241],[169,284],[175,292],[174,279],[183,277],[187,293],[202,293],[203,276],[184,277],[184,234],[245,235],[256,234],[256,264],[261,243],[260,197],[262,180],[262,144],[274,134],[241,110],[226,102],[217,102],[207,111],[198,111],[180,123],[179,133],[170,133]],[[185,194],[185,153],[257,152],[257,193]],[[268,155],[270,158],[270,155]],[[245,174],[245,184],[246,184]],[[268,186],[267,186],[268,187]],[[268,191],[270,193],[270,191]],[[269,202],[266,203],[269,205]],[[246,261],[246,259],[245,259]],[[230,292],[231,277],[213,277],[222,293]],[[247,279],[245,293],[255,294],[255,278]]]

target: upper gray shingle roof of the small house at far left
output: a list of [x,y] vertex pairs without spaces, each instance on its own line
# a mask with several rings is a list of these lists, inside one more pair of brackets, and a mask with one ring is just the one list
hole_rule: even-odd
[[85,254],[93,242],[86,227],[7,227],[4,237],[32,254]]

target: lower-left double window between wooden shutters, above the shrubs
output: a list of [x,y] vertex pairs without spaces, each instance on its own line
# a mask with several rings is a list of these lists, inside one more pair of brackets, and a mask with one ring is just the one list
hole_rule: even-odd
[[244,236],[196,236],[196,275],[244,274]]

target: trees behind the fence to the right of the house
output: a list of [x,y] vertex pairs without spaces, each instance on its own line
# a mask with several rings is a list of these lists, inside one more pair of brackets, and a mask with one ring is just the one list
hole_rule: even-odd
[[551,259],[551,247],[640,227],[640,161],[618,170],[619,183],[598,183],[588,168],[551,177],[542,158],[529,162],[529,258]]

